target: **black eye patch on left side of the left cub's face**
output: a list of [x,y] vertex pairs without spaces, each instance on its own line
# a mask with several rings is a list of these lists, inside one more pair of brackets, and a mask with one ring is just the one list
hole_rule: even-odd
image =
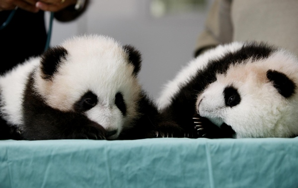
[[97,96],[92,92],[87,92],[81,96],[81,98],[74,103],[74,110],[77,112],[84,112],[91,109],[97,104]]

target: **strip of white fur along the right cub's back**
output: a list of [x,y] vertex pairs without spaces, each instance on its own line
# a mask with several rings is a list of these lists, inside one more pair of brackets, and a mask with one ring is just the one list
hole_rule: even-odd
[[179,92],[179,89],[182,86],[187,84],[196,75],[198,70],[204,69],[210,61],[220,59],[227,52],[237,51],[241,47],[241,42],[218,46],[214,50],[209,50],[190,61],[181,69],[173,80],[169,81],[163,87],[162,92],[157,99],[159,110],[166,108],[171,103],[172,97]]

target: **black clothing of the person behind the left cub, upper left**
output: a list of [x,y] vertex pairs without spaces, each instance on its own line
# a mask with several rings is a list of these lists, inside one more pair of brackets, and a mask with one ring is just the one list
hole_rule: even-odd
[[[0,11],[0,24],[11,11]],[[44,11],[17,9],[9,24],[0,30],[0,74],[30,56],[40,55],[46,45]]]

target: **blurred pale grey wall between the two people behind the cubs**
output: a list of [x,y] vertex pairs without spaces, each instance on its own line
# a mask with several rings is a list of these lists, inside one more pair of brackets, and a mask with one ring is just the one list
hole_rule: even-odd
[[73,22],[54,20],[51,45],[73,35],[109,35],[143,57],[140,82],[156,99],[162,86],[193,58],[212,0],[90,0]]

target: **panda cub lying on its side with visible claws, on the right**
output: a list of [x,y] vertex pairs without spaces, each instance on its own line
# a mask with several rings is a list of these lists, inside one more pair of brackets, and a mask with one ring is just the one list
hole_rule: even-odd
[[297,85],[297,57],[265,43],[233,42],[184,67],[165,86],[159,110],[193,138],[295,137]]

